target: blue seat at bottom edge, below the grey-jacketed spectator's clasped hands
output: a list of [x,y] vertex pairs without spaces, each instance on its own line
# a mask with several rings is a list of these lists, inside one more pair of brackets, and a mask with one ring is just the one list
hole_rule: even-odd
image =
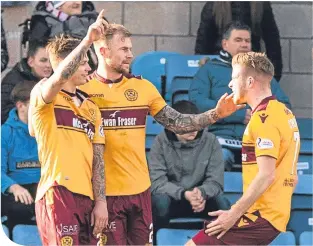
[[157,245],[184,245],[198,233],[198,230],[160,229],[157,232]]

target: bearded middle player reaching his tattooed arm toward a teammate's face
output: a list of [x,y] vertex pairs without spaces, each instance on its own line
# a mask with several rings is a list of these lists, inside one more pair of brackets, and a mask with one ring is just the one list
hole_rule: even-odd
[[[97,71],[80,87],[99,106],[106,138],[104,162],[109,211],[105,235],[111,245],[152,244],[150,177],[145,155],[146,117],[175,133],[202,130],[242,105],[225,94],[215,109],[184,115],[167,106],[151,82],[129,75],[131,33],[109,24],[94,43]],[[114,226],[113,226],[114,225]]]

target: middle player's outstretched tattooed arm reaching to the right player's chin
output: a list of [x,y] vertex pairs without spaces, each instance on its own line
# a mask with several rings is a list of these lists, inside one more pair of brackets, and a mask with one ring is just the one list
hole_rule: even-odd
[[202,114],[181,114],[170,106],[165,106],[154,118],[168,130],[176,134],[200,131],[209,125],[214,124],[221,118],[227,117],[236,110],[244,108],[245,105],[235,105],[233,94],[225,93],[214,109]]

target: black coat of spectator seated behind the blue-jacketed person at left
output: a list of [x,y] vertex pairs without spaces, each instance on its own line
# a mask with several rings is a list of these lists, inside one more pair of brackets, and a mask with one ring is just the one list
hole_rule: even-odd
[[15,107],[11,101],[11,92],[15,85],[25,80],[39,81],[40,79],[34,76],[30,67],[27,64],[27,59],[24,58],[9,71],[1,82],[1,124],[3,124],[8,116],[9,111]]

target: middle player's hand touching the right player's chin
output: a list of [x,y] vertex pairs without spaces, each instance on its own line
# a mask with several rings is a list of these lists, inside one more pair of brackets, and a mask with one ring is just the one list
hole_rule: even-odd
[[236,105],[233,101],[234,94],[228,95],[225,93],[221,98],[218,100],[216,104],[216,113],[219,118],[225,118],[232,113],[236,112],[238,109],[244,108],[245,104]]

